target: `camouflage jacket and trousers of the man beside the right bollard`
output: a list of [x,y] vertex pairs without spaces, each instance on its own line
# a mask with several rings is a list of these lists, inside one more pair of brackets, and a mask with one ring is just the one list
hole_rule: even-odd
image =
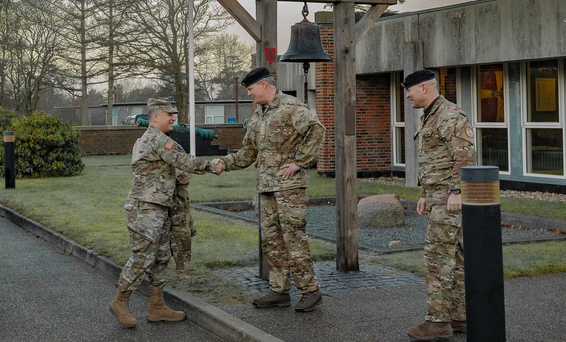
[[474,133],[465,113],[442,96],[421,117],[415,134],[421,197],[430,212],[424,262],[426,320],[466,320],[462,212],[447,209],[452,190],[460,190],[460,167],[475,165]]

